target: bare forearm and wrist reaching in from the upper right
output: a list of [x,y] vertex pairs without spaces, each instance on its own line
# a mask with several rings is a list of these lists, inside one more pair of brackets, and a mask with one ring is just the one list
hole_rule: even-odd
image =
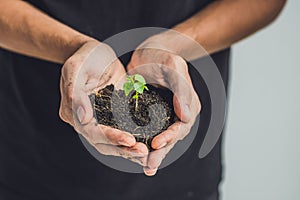
[[166,31],[156,37],[159,40],[157,47],[163,46],[188,60],[205,54],[190,39],[208,53],[220,51],[268,25],[280,13],[284,3],[285,0],[214,1],[173,27],[175,31]]

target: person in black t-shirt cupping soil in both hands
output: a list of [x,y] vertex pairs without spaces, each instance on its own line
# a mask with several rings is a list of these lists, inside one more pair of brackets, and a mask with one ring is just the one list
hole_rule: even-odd
[[[101,41],[144,26],[172,28],[197,41],[212,54],[226,85],[227,48],[273,21],[284,3],[284,0],[0,0],[3,48],[0,51],[0,199],[218,199],[221,140],[206,158],[198,159],[209,123],[210,111],[204,109],[209,105],[209,97],[205,83],[191,73],[193,69],[182,58],[190,51],[189,45],[177,45],[173,38],[176,34],[167,31],[143,43],[159,44],[172,52],[137,50],[127,67],[134,69],[155,57],[155,62],[182,74],[195,88],[185,98],[180,93],[182,89],[178,89],[180,82],[171,76],[166,76],[161,84],[173,86],[174,109],[186,130],[200,111],[199,99],[203,107],[192,146],[157,174],[165,154],[188,131],[178,137],[174,134],[176,130],[169,129],[153,140],[155,150],[149,153],[129,133],[100,125],[89,129],[92,111],[87,106],[88,98],[74,93],[74,88],[84,91],[88,84],[104,86],[120,79],[126,73],[125,68],[113,49]],[[82,62],[95,49],[103,59],[82,69]],[[111,59],[116,60],[105,68]],[[93,66],[105,69],[105,73],[93,73]],[[86,76],[81,76],[76,85],[80,73]],[[95,82],[99,77],[100,82]],[[63,121],[94,143],[100,153],[136,158],[146,175],[156,175],[149,178],[119,172],[90,156],[72,127],[58,117],[59,80],[59,114]]]

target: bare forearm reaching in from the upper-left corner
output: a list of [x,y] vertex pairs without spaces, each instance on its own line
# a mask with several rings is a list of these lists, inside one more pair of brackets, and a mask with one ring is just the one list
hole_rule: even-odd
[[0,0],[0,47],[64,63],[91,38],[20,0]]

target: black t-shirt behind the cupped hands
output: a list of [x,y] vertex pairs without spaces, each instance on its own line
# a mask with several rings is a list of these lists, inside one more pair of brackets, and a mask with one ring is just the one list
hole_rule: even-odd
[[[72,28],[104,40],[132,28],[170,28],[209,0],[31,0]],[[212,55],[225,85],[229,50]],[[124,63],[126,64],[126,63]],[[204,159],[198,152],[208,128],[210,98],[190,67],[203,109],[195,140],[184,155],[154,177],[111,169],[59,119],[61,66],[0,49],[1,200],[218,199],[221,139]]]

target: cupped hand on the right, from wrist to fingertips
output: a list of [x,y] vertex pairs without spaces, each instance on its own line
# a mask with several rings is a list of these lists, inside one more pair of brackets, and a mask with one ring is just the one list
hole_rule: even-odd
[[153,43],[151,48],[147,48],[147,44],[148,41],[133,53],[127,66],[128,73],[141,74],[148,83],[172,90],[174,111],[179,117],[178,121],[152,141],[151,146],[155,150],[149,153],[144,172],[153,176],[176,142],[190,132],[201,110],[201,104],[193,88],[186,61],[165,49],[153,49]]

